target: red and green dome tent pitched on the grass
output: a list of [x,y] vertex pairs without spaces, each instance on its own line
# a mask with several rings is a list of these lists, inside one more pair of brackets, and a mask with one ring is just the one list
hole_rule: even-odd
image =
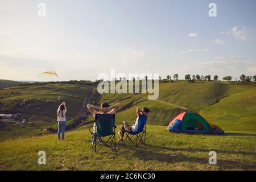
[[183,111],[177,114],[169,123],[168,129],[176,119],[182,121],[181,133],[212,133],[209,123],[198,113]]

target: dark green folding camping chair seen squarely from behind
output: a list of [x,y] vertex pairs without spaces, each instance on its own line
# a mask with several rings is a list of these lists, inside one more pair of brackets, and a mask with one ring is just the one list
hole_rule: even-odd
[[[116,151],[115,114],[96,114],[95,125],[85,127],[87,127],[90,134],[92,134],[94,152],[100,151],[103,146],[110,147],[113,151]],[[90,130],[91,128],[93,128],[93,131]],[[97,148],[97,146],[99,148]]]

